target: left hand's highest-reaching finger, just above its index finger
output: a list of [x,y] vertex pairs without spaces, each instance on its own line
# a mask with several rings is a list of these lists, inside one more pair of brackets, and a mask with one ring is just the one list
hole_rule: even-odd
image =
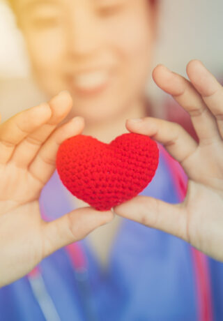
[[45,140],[47,140],[47,137],[55,130],[56,125],[70,112],[72,98],[68,91],[61,91],[59,95],[52,98],[52,100],[49,101],[49,107],[52,110],[52,116],[49,121],[30,135],[27,135],[24,140],[17,145],[10,159],[17,167],[26,168],[31,163],[40,147]]

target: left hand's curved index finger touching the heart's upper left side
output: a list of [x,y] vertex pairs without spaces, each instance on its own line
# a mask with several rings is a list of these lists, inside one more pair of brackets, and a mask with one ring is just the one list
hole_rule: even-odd
[[84,119],[75,117],[52,133],[28,167],[33,177],[45,185],[56,168],[56,153],[60,144],[72,136],[79,135],[83,129]]

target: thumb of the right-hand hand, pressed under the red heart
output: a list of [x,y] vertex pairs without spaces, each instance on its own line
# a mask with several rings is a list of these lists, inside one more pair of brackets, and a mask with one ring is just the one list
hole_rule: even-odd
[[115,214],[173,234],[187,241],[187,216],[183,203],[169,204],[153,197],[137,196],[114,207]]

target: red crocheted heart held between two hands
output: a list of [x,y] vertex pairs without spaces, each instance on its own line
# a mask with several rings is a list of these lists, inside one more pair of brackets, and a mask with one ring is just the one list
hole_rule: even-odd
[[56,170],[72,195],[107,211],[146,188],[158,159],[157,143],[146,135],[125,133],[109,144],[76,135],[59,146]]

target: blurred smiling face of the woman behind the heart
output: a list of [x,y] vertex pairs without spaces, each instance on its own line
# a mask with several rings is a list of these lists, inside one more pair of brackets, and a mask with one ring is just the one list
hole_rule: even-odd
[[112,119],[141,98],[155,38],[148,0],[15,2],[33,74],[49,96],[70,91],[72,116]]

